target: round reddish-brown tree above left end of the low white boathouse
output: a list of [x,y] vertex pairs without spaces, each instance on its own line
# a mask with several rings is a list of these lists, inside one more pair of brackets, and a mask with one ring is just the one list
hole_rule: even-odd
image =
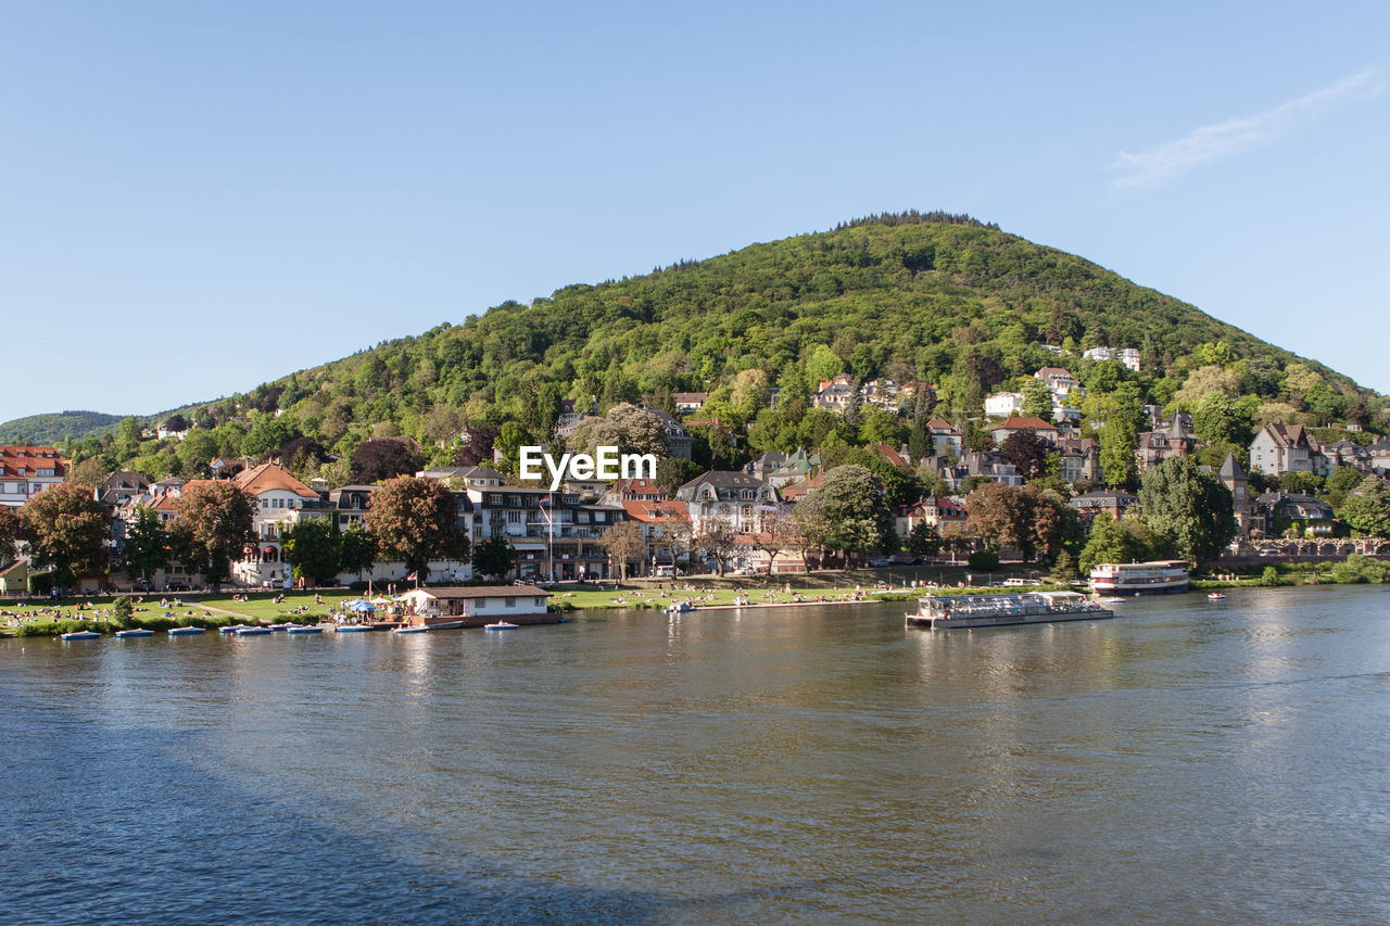
[[382,559],[399,559],[424,584],[431,559],[468,559],[468,535],[459,527],[459,503],[435,480],[402,476],[371,494],[367,530]]

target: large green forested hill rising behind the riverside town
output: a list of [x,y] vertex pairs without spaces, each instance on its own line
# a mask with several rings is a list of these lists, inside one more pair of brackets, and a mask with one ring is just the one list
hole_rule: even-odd
[[[1138,349],[1143,373],[1081,360],[1091,346]],[[994,225],[916,213],[507,302],[183,413],[221,431],[282,410],[265,439],[291,428],[342,453],[373,434],[436,445],[464,423],[514,421],[539,437],[562,398],[602,410],[709,391],[702,417],[748,425],[762,449],[805,444],[806,399],[841,371],[924,380],[941,413],[967,417],[1042,366],[1070,368],[1093,392],[1131,381],[1156,405],[1219,391],[1311,424],[1383,420],[1380,396],[1190,304]]]

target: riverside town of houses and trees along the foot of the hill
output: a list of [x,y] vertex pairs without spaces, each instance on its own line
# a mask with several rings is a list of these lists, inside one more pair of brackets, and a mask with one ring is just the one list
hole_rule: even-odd
[[[759,432],[796,403],[742,374],[741,395],[713,399],[552,395],[535,444],[535,423],[463,421],[432,448],[377,435],[335,453],[261,395],[261,407],[246,396],[152,430],[126,420],[70,446],[3,446],[0,594],[787,574],[934,558],[1022,560],[1068,581],[1162,556],[1390,553],[1390,439],[1366,427],[1383,416],[1318,424],[1316,382],[1297,405],[1238,396],[1219,384],[1225,345],[1202,345],[1213,363],[1163,406],[1141,400],[1137,349],[1042,348],[1083,375],[1042,366],[984,395],[983,414],[951,414],[935,385],[842,371],[801,398],[805,444],[760,452]],[[1202,375],[1218,385],[1190,389]],[[562,481],[552,463],[555,481],[538,481],[543,448],[600,446],[614,466],[619,449],[646,455],[655,473]]]

